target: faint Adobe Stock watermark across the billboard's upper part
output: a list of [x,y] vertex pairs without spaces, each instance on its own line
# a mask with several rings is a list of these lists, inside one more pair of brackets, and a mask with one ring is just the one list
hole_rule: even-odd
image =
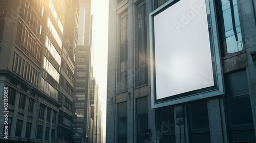
[[174,26],[177,29],[178,32],[180,32],[181,28],[184,28],[191,19],[195,18],[196,15],[201,11],[202,8],[205,7],[205,0],[198,1],[198,5],[195,6],[189,6],[190,10],[184,14],[181,14],[181,20],[180,22],[175,21]]

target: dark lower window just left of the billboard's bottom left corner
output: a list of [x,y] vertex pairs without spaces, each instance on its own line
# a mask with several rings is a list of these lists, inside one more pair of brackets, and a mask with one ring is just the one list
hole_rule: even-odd
[[145,129],[148,129],[147,97],[136,100],[137,142],[145,142]]

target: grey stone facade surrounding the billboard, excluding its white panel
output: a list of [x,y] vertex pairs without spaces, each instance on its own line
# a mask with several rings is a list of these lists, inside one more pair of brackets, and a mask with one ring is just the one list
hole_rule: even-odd
[[224,93],[154,107],[150,14],[178,2],[110,1],[106,142],[255,142],[254,1],[205,1]]

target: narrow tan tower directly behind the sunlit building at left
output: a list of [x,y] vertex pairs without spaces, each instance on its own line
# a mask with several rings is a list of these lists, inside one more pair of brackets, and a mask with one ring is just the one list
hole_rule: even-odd
[[[65,1],[66,13],[65,13],[65,28],[63,30],[63,39],[67,47],[67,57],[62,60],[63,73],[60,77],[60,90],[61,94],[59,102],[62,103],[59,109],[58,116],[58,131],[57,142],[72,140],[72,108],[74,99],[74,72],[75,72],[75,55],[76,45],[78,39],[78,14],[79,4],[77,0]],[[75,15],[75,16],[74,16]],[[72,61],[72,62],[71,62]],[[66,96],[69,93],[71,96]],[[69,95],[68,94],[68,95]]]

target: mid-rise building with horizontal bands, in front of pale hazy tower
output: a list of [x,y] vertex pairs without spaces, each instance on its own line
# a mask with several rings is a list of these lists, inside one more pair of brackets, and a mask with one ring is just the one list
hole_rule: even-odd
[[90,79],[91,79],[91,47],[77,45],[75,65],[75,97],[73,142],[91,142],[91,116],[90,116]]

